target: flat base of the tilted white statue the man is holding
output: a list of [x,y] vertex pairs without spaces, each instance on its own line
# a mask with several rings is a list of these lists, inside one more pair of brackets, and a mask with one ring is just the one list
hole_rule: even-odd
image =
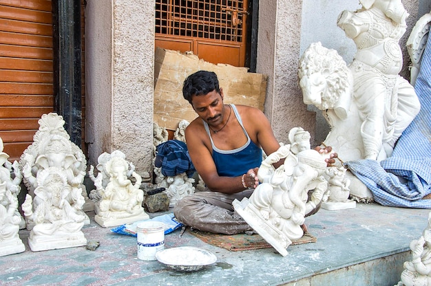
[[244,198],[242,201],[235,199],[232,205],[244,221],[246,221],[255,232],[260,234],[267,243],[273,245],[273,248],[282,254],[282,256],[287,255],[286,248],[288,248],[288,245],[291,245],[292,241],[273,225],[266,223],[266,220],[249,203],[249,199]]

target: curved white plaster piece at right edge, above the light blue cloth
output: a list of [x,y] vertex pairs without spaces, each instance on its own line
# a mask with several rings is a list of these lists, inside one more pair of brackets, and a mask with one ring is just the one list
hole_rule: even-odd
[[416,83],[419,69],[421,69],[421,59],[428,40],[428,35],[430,34],[430,25],[431,12],[423,15],[421,19],[416,22],[406,43],[407,51],[412,61],[410,69],[410,83],[412,86]]

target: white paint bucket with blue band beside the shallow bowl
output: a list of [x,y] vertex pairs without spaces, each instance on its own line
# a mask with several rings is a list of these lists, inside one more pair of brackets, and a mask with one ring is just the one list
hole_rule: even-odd
[[136,225],[138,235],[138,259],[156,260],[156,252],[165,249],[165,223],[143,221]]

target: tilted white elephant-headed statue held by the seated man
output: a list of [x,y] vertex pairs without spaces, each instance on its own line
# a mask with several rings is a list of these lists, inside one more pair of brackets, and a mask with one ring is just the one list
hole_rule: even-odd
[[[323,176],[326,155],[312,149],[295,155],[290,148],[283,145],[268,155],[257,172],[262,184],[249,199],[233,201],[238,214],[282,256],[292,241],[303,236],[305,217],[317,209],[328,188]],[[282,158],[284,164],[275,169],[272,164]]]

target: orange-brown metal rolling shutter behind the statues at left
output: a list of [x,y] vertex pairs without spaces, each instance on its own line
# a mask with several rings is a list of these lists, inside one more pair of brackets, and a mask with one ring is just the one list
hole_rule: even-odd
[[52,56],[51,1],[0,0],[0,137],[11,162],[53,111]]

